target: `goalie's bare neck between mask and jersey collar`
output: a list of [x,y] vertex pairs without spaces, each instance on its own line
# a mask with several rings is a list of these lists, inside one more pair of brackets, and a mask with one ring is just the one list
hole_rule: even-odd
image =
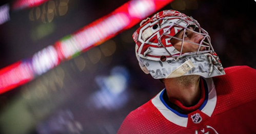
[[200,100],[200,76],[190,75],[164,79],[169,100],[179,100],[184,106],[193,106]]

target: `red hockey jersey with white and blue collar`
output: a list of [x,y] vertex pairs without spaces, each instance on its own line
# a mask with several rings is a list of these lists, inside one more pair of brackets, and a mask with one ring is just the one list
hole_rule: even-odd
[[256,70],[233,66],[225,72],[204,78],[205,96],[192,113],[169,107],[163,90],[133,110],[118,133],[256,133]]

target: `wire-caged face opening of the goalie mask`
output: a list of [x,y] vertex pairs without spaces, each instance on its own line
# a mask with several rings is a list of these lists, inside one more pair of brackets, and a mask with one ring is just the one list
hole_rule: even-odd
[[[180,24],[186,24],[186,26],[184,27]],[[176,34],[173,35],[173,32]],[[192,19],[192,21],[182,18],[179,19],[166,28],[157,40],[159,44],[161,44],[161,47],[166,49],[168,47],[167,44],[171,44],[176,51],[178,51],[178,53],[173,53],[166,49],[171,57],[181,57],[213,51],[210,36],[194,19]]]

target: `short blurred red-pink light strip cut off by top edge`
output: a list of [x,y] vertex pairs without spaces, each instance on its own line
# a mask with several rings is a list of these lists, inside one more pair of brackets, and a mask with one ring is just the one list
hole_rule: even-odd
[[21,10],[26,8],[37,7],[49,0],[17,0],[12,5],[12,10]]

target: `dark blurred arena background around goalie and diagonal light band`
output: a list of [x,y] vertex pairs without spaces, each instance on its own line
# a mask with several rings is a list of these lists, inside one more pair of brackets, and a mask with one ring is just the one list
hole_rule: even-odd
[[[51,55],[48,46],[72,40],[73,33],[129,1],[51,0],[35,6],[18,2],[0,1],[0,69],[33,61],[43,52]],[[210,34],[225,68],[256,69],[255,7],[253,0],[175,0],[143,12],[152,16],[174,9],[192,16]],[[130,111],[164,88],[139,67],[132,40],[137,28],[139,24],[65,60],[55,59],[49,70],[40,68],[30,82],[0,94],[0,133],[116,133]]]

